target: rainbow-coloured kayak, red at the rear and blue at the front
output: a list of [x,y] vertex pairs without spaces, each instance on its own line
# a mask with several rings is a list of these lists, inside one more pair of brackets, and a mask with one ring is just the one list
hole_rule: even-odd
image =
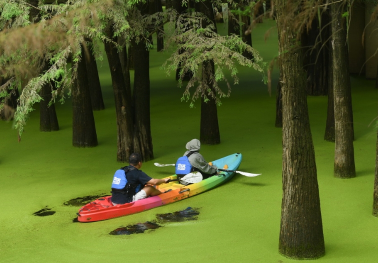
[[[226,166],[227,171],[221,171],[217,175],[203,179],[200,182],[183,185],[177,181],[170,181],[156,185],[162,193],[155,196],[150,196],[134,202],[113,205],[111,203],[111,195],[98,198],[90,203],[82,206],[77,214],[77,220],[80,222],[93,222],[106,220],[110,218],[120,217],[128,214],[133,214],[148,210],[157,206],[176,202],[190,196],[199,194],[201,192],[215,188],[216,186],[228,181],[241,162],[241,153],[233,153],[223,158],[212,161],[212,164],[218,168]],[[171,175],[166,178],[176,179],[176,175]]]

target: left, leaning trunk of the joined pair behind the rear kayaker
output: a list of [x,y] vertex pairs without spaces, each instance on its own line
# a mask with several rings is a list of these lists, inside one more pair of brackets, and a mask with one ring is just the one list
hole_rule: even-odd
[[[112,26],[109,24],[106,35],[114,42]],[[131,108],[130,85],[126,86],[124,72],[118,56],[118,50],[113,43],[104,41],[105,52],[110,68],[111,84],[114,91],[115,113],[117,121],[117,161],[128,162],[128,157],[134,152],[133,119]],[[127,72],[128,73],[128,72]]]

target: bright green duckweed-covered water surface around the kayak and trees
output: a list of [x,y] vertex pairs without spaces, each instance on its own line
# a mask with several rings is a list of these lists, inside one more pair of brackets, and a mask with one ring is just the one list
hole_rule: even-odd
[[[264,42],[259,24],[253,45],[267,61],[277,54],[277,38]],[[218,28],[221,29],[221,28]],[[159,67],[167,54],[151,51],[151,131],[154,159],[143,163],[147,174],[162,178],[199,138],[200,106],[180,101],[183,89],[174,74]],[[39,111],[31,113],[21,142],[12,122],[0,122],[0,257],[2,262],[297,262],[278,253],[281,185],[281,130],[274,127],[275,91],[269,96],[258,74],[240,69],[240,82],[218,107],[221,143],[202,145],[206,160],[241,152],[240,174],[199,195],[141,213],[99,222],[75,222],[68,200],[109,194],[116,162],[116,122],[111,81],[105,62],[98,62],[105,109],[94,112],[98,146],[72,147],[71,103],[56,105],[59,131],[39,132]],[[277,83],[273,71],[272,87]],[[351,76],[356,177],[333,177],[334,144],[323,140],[325,96],[308,97],[315,148],[325,256],[319,262],[375,262],[378,218],[371,215],[375,165],[376,117],[374,81]],[[186,207],[201,207],[196,220],[164,223],[140,234],[111,235],[114,229],[156,220]],[[50,210],[48,210],[50,209]],[[54,211],[36,216],[35,212]],[[160,225],[160,223],[158,223]],[[181,247],[182,249],[178,249]],[[127,259],[125,259],[127,258]]]

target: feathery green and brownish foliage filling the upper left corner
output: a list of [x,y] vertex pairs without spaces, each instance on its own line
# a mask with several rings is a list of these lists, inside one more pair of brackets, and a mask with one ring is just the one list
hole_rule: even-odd
[[[15,112],[15,127],[23,132],[42,85],[55,83],[51,87],[52,100],[70,94],[70,84],[76,77],[77,62],[81,59],[80,43],[92,39],[97,58],[98,42],[110,41],[102,29],[108,21],[114,24],[117,34],[129,29],[126,20],[130,2],[121,0],[68,0],[62,4],[41,4],[33,7],[24,1],[0,0],[0,77],[7,81],[0,86],[3,97],[9,96],[11,86],[21,86],[18,107]],[[29,10],[37,8],[40,20],[30,24]],[[72,57],[71,69],[67,68],[67,57]],[[49,68],[45,64],[49,63]],[[27,66],[25,66],[27,65]],[[72,72],[72,76],[70,75]],[[2,102],[3,103],[3,102]]]

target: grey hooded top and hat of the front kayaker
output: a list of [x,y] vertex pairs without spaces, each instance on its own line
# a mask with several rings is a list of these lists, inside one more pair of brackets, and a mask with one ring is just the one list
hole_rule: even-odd
[[185,147],[186,147],[187,151],[185,151],[183,156],[188,154],[189,151],[194,151],[194,153],[192,153],[188,157],[189,162],[191,163],[191,165],[193,167],[198,168],[199,171],[202,172],[202,173],[212,174],[212,173],[216,172],[216,166],[215,165],[209,165],[208,162],[205,161],[205,159],[202,157],[202,155],[198,152],[200,147],[201,147],[201,143],[199,142],[199,140],[192,139],[188,143],[186,143]]

